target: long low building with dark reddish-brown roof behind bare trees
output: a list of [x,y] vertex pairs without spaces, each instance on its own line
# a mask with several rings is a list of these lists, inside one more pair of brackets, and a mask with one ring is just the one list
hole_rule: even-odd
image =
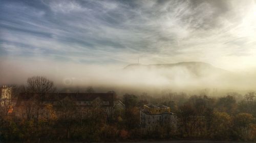
[[[43,98],[38,101],[40,97]],[[51,110],[49,106],[52,107]],[[75,108],[76,113],[81,116],[84,111],[99,107],[111,117],[114,110],[124,107],[124,104],[113,93],[20,93],[14,114],[18,118],[50,118],[52,111],[60,116],[67,106]]]

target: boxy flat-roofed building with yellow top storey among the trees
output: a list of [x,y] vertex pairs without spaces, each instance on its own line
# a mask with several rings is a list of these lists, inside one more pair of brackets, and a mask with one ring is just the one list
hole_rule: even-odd
[[164,105],[144,105],[140,110],[140,126],[151,128],[155,126],[171,126],[177,128],[177,116],[170,112],[170,107]]

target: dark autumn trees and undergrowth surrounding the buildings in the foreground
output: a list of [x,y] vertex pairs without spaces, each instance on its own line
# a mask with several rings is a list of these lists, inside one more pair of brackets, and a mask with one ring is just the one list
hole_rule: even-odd
[[[27,85],[12,85],[12,98],[20,92],[38,93],[31,98],[31,108],[40,114],[44,106],[48,118],[20,119],[8,114],[1,106],[0,140],[6,142],[54,141],[127,141],[212,139],[256,141],[256,94],[227,93],[223,97],[207,94],[187,95],[168,92],[162,96],[125,94],[120,100],[125,108],[115,108],[111,116],[93,105],[80,109],[71,99],[58,101],[58,106],[45,104],[46,93],[56,91],[53,81],[46,77],[28,78]],[[87,92],[93,93],[92,87]],[[115,93],[114,91],[111,91]],[[238,101],[238,97],[242,100]],[[32,106],[32,103],[34,106]],[[162,104],[177,115],[177,129],[166,124],[152,128],[140,127],[140,109],[144,104]]]

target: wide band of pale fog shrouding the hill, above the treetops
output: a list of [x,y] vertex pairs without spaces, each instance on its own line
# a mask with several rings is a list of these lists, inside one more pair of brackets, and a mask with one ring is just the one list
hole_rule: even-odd
[[[38,61],[0,62],[0,84],[26,84],[27,78],[46,76],[60,88],[92,86],[99,91],[150,92],[163,89],[254,90],[255,72],[227,71],[203,62],[175,64],[81,65]],[[18,65],[18,66],[17,66]],[[24,68],[26,67],[26,68]],[[78,70],[79,69],[79,70]]]

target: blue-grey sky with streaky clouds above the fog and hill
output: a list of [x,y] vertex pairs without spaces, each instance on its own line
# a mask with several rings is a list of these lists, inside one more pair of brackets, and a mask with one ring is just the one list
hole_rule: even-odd
[[[0,60],[254,68],[256,1],[3,1]],[[26,64],[25,64],[26,65]]]

